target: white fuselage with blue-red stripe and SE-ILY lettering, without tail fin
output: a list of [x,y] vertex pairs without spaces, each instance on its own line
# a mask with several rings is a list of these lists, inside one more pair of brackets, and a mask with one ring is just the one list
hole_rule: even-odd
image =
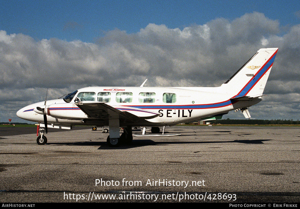
[[[133,107],[141,109],[141,111],[161,113],[158,117],[148,119],[143,124],[131,122],[120,123],[120,126],[174,125],[249,107],[261,101],[261,99],[256,99],[234,102],[230,98],[235,95],[224,91],[220,92],[218,88],[199,87],[188,90],[180,87],[86,87],[79,89],[70,103],[66,103],[63,99],[46,101],[46,106],[49,108],[47,121],[53,124],[108,126],[106,121],[90,118],[74,103],[79,94],[88,94],[89,101],[97,102],[103,99],[100,98],[99,100],[99,95],[101,97],[102,94],[109,93],[109,98],[105,97],[105,99],[109,99],[109,102],[106,103],[112,107]],[[126,100],[126,94],[129,95],[129,100],[122,101],[123,95],[125,95]],[[167,98],[167,96],[172,98]],[[34,111],[36,107],[42,105],[44,105],[44,101],[31,104],[20,109],[17,115],[25,120],[42,123],[44,121],[43,115]]]

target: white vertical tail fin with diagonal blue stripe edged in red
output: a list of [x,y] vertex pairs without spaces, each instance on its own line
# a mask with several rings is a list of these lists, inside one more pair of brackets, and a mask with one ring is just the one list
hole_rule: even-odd
[[[234,97],[261,95],[268,80],[278,48],[259,49],[222,86]],[[234,98],[233,97],[233,98]]]

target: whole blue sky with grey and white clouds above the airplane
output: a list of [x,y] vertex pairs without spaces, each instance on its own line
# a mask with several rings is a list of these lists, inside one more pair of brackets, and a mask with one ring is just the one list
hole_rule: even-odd
[[[171,3],[170,3],[171,2]],[[0,122],[86,86],[219,86],[278,47],[256,119],[300,119],[298,1],[1,1]],[[243,119],[241,112],[225,118]]]

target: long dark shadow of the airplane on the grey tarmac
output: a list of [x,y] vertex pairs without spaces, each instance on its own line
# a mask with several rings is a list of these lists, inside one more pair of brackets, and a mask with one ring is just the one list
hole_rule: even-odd
[[98,150],[109,149],[130,149],[135,147],[144,147],[149,145],[176,145],[176,144],[209,144],[209,143],[243,143],[243,144],[264,144],[264,141],[271,139],[255,139],[255,140],[232,140],[232,141],[204,141],[204,142],[159,142],[150,139],[135,139],[131,145],[120,145],[119,147],[110,147],[106,142],[50,142],[49,145],[69,145],[69,146],[100,146]]

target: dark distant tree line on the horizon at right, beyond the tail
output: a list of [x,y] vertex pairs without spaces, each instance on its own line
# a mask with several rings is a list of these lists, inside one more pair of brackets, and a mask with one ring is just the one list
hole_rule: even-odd
[[208,121],[212,124],[222,124],[222,125],[300,125],[299,119],[294,120],[254,120],[254,119],[243,119],[243,120],[234,120],[234,119],[222,119],[222,120],[212,120]]

